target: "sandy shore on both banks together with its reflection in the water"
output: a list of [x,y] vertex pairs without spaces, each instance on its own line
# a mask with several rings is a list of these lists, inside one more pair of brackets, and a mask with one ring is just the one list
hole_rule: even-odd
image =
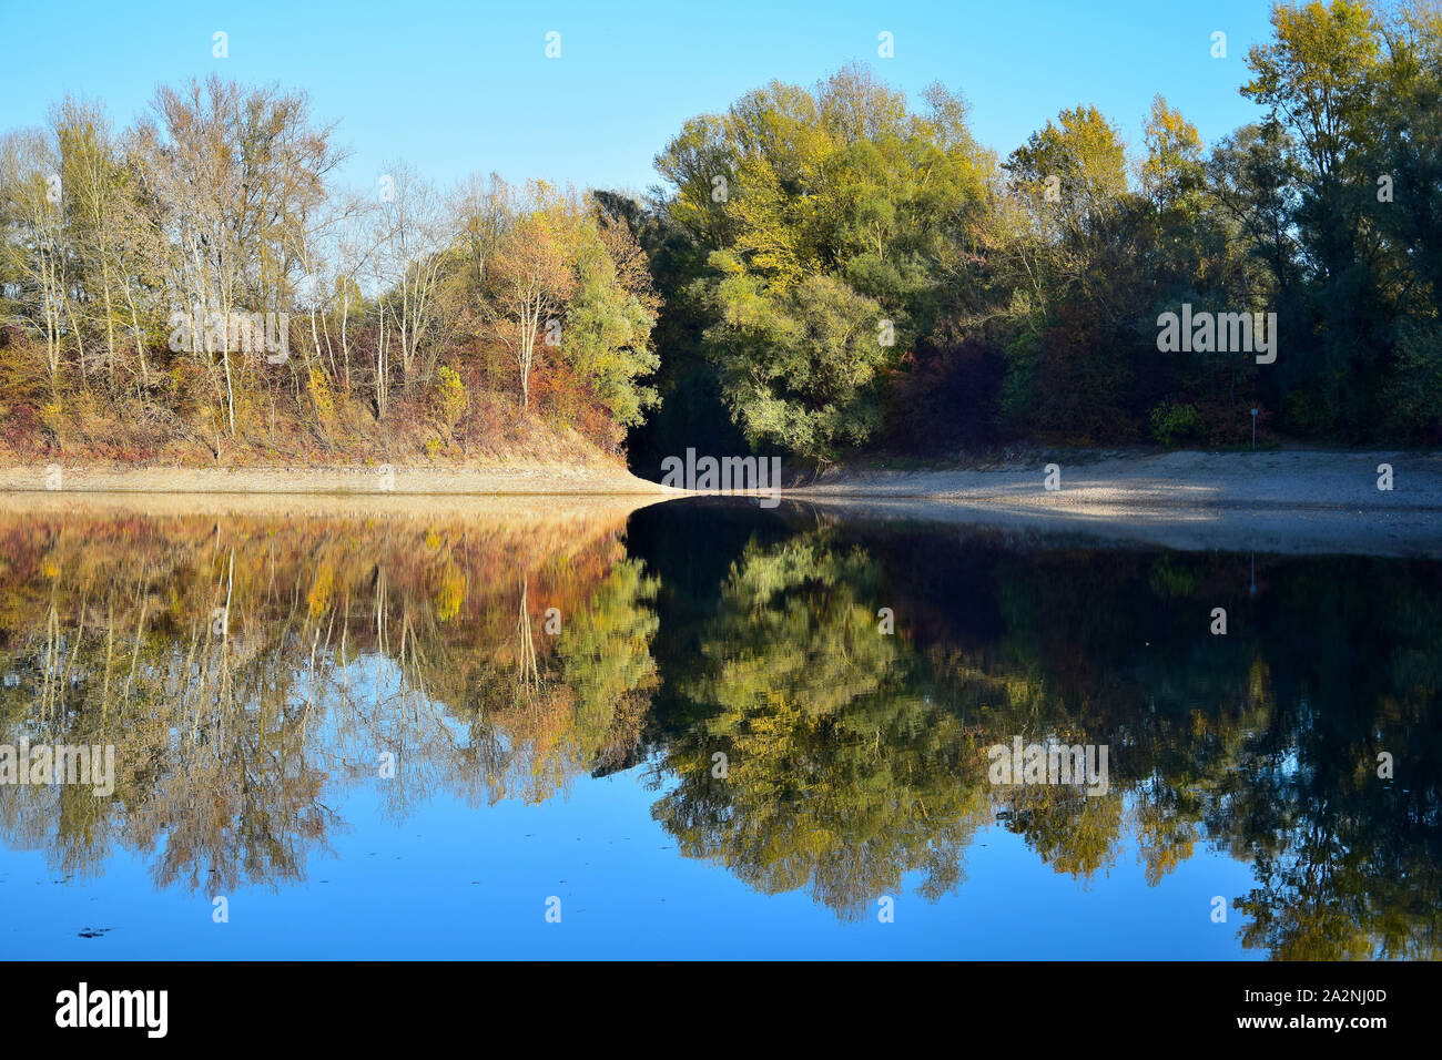
[[[1056,490],[1044,487],[1038,463],[995,470],[851,469],[782,495],[789,508],[842,519],[975,524],[1184,549],[1442,555],[1442,453],[1164,453],[1057,463]],[[1377,489],[1379,464],[1392,467],[1390,490]],[[48,489],[50,483],[59,489]],[[373,467],[62,466],[58,480],[46,467],[0,469],[0,508],[20,512],[110,506],[151,513],[343,509],[425,516],[489,506],[535,515],[630,511],[684,495],[619,466],[395,467],[389,476]],[[516,502],[526,496],[529,502]]]

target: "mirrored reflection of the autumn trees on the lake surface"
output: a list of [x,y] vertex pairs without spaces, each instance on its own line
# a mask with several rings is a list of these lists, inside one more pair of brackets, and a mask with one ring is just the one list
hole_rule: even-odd
[[[1224,851],[1275,958],[1439,952],[1433,561],[1259,557],[1253,594],[1247,557],[669,505],[629,535],[92,513],[0,538],[0,743],[117,746],[110,800],[0,786],[0,836],[65,875],[131,849],[157,887],[280,888],[358,786],[401,819],[645,764],[685,857],[846,920],[955,894],[1002,826],[1083,885]],[[992,786],[1018,736],[1109,746],[1107,793]]]

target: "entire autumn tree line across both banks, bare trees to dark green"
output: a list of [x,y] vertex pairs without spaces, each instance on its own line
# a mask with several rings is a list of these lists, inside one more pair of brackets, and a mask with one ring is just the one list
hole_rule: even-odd
[[1139,150],[1080,104],[1002,159],[959,92],[848,66],[689,120],[647,195],[401,163],[359,195],[301,94],[162,88],[120,133],[68,100],[0,144],[0,446],[545,459],[571,434],[653,472],[1229,446],[1252,410],[1263,441],[1436,444],[1442,10],[1272,25],[1257,121],[1210,149],[1158,95]]

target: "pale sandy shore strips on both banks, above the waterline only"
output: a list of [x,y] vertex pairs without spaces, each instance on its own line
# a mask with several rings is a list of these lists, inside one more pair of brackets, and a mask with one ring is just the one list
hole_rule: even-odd
[[[1392,489],[1377,489],[1379,464],[1392,466]],[[996,508],[1089,515],[1195,508],[1442,509],[1442,453],[1161,453],[1057,461],[1060,489],[1045,470],[841,469],[789,499],[926,499]],[[59,474],[55,474],[58,469]],[[557,467],[82,467],[65,463],[0,467],[0,493],[345,493],[512,495],[607,493],[682,496],[686,490],[640,479],[622,466]]]

